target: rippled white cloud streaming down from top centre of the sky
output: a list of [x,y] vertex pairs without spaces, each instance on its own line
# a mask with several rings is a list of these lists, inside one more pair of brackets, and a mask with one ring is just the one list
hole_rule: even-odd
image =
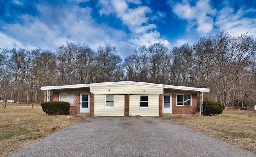
[[156,30],[157,26],[148,22],[151,18],[148,17],[148,14],[152,13],[151,9],[147,6],[129,8],[128,3],[140,4],[141,2],[139,0],[100,0],[102,6],[100,14],[115,14],[120,18],[131,32],[129,43],[136,48],[158,42],[168,46],[169,42],[161,38]]

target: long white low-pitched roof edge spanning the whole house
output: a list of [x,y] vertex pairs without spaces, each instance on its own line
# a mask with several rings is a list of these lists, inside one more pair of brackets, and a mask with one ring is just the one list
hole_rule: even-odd
[[156,84],[156,83],[134,82],[134,81],[102,82],[102,83],[63,85],[63,86],[44,86],[44,87],[41,87],[41,90],[74,89],[74,88],[86,88],[86,87],[94,87],[94,86],[111,86],[111,85],[123,85],[123,84],[162,87],[162,88],[166,88],[166,89],[194,91],[194,92],[210,92],[210,89],[208,89],[208,88],[173,86],[173,85],[167,85],[167,84]]

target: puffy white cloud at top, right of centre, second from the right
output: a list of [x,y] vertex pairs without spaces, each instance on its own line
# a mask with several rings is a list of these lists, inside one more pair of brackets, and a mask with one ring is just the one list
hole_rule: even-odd
[[216,10],[210,6],[210,0],[199,0],[195,6],[191,6],[187,0],[174,4],[173,12],[179,18],[188,21],[187,30],[196,25],[196,31],[200,34],[210,33],[214,27],[213,16]]

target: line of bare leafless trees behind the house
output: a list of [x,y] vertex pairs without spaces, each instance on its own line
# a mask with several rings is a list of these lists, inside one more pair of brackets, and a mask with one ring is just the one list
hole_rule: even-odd
[[41,86],[130,80],[210,88],[204,97],[227,109],[255,101],[255,52],[253,35],[226,31],[172,48],[141,46],[125,59],[111,43],[98,49],[78,43],[56,51],[1,49],[0,97],[38,102],[44,100]]

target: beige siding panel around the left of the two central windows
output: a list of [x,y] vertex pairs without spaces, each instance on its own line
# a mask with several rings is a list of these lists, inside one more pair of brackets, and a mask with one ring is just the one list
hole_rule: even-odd
[[105,108],[105,94],[94,95],[95,116],[124,116],[124,95],[114,95],[114,108]]

